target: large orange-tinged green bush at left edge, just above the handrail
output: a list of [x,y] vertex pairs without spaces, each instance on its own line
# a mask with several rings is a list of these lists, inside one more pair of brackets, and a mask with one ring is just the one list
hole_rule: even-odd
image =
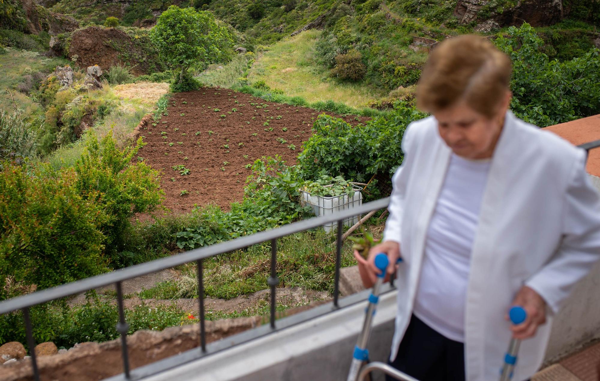
[[6,276],[17,284],[46,288],[107,270],[100,227],[109,218],[95,202],[97,191],[82,194],[73,170],[28,173],[10,163],[2,167],[0,299],[7,293]]

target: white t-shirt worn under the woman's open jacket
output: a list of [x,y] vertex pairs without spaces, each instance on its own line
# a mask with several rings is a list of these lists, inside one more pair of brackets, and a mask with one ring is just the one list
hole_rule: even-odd
[[464,342],[473,240],[490,159],[452,154],[425,242],[413,313],[445,337]]

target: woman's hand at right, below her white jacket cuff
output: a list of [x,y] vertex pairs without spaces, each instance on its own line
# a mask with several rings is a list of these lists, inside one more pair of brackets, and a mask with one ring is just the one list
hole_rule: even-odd
[[[512,337],[523,340],[535,336],[538,326],[546,322],[545,300],[533,288],[523,286],[512,301],[512,305],[521,306],[527,312],[523,323],[511,326]],[[505,319],[509,320],[508,314]]]

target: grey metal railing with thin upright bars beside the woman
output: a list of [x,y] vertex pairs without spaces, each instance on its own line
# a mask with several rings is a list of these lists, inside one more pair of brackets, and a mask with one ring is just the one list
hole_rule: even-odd
[[[592,148],[600,147],[600,140],[589,142],[586,144],[579,145],[578,147],[583,148],[589,153]],[[130,369],[130,361],[127,349],[127,331],[129,326],[125,322],[125,313],[123,306],[123,293],[121,282],[127,279],[136,278],[137,276],[147,275],[160,270],[169,269],[176,267],[181,264],[196,262],[197,273],[198,273],[198,299],[199,299],[199,325],[200,325],[200,351],[196,352],[192,356],[185,356],[186,358],[182,361],[175,361],[176,365],[184,364],[185,362],[193,361],[194,359],[216,352],[216,350],[223,350],[233,345],[241,344],[248,340],[253,340],[262,335],[269,334],[277,331],[275,325],[275,294],[277,292],[277,285],[279,279],[277,278],[277,239],[288,236],[290,234],[299,233],[301,231],[309,230],[311,228],[320,227],[324,224],[331,222],[337,222],[337,242],[336,242],[336,257],[335,257],[335,280],[334,280],[334,298],[331,308],[315,308],[314,314],[302,314],[304,320],[293,319],[292,323],[286,323],[286,326],[291,324],[299,324],[314,317],[326,314],[331,311],[335,311],[340,308],[339,299],[339,288],[338,284],[340,281],[340,262],[341,262],[341,246],[342,242],[342,230],[344,219],[350,218],[355,215],[363,215],[373,210],[384,209],[388,206],[389,197],[383,198],[377,201],[371,201],[370,203],[363,204],[362,206],[345,210],[343,212],[334,213],[328,216],[322,216],[317,218],[311,218],[304,221],[294,222],[292,224],[284,225],[282,227],[274,228],[268,231],[262,231],[260,233],[251,234],[250,236],[238,237],[236,239],[217,243],[215,245],[206,246],[204,248],[194,249],[181,254],[173,255],[171,257],[160,258],[148,263],[137,264],[135,266],[119,269],[110,273],[102,275],[92,276],[91,278],[81,279],[79,281],[59,285],[53,288],[47,288],[46,290],[34,291],[31,294],[15,297],[0,302],[0,314],[7,314],[13,311],[22,311],[23,319],[25,320],[25,331],[27,344],[29,346],[29,352],[31,355],[32,370],[34,373],[34,379],[40,380],[40,371],[37,365],[37,356],[33,350],[35,347],[35,341],[32,333],[31,317],[29,316],[29,308],[41,303],[50,302],[52,300],[61,299],[73,294],[79,294],[85,291],[93,290],[98,287],[114,284],[116,287],[117,294],[117,305],[119,310],[119,322],[116,325],[116,329],[121,335],[121,349],[122,349],[122,360],[123,360],[123,376],[125,380],[136,380],[142,377],[150,376],[151,374],[159,373],[160,371],[166,370],[173,367],[173,362],[169,363],[170,358],[157,361],[157,366],[149,367],[152,369],[151,373],[143,371],[138,374],[134,374]],[[271,287],[271,313],[270,313],[270,326],[268,330],[255,328],[248,335],[241,335],[239,340],[229,346],[223,347],[222,345],[215,346],[214,352],[208,352],[206,349],[206,329],[205,329],[205,306],[204,306],[204,284],[203,284],[203,260],[211,258],[219,254],[236,251],[239,249],[245,249],[249,246],[257,245],[263,242],[271,242],[271,276],[268,278],[268,284]],[[356,302],[356,300],[353,300]],[[181,356],[181,355],[179,355]],[[167,361],[165,361],[167,360]],[[175,365],[175,366],[176,366]],[[112,379],[121,379],[119,376],[112,377]]]

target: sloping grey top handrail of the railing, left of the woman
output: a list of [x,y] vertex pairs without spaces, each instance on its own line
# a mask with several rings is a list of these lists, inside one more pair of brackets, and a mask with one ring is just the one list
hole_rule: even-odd
[[164,269],[170,269],[171,267],[179,266],[181,264],[214,257],[215,255],[223,254],[225,252],[247,248],[248,246],[257,245],[258,243],[288,236],[289,234],[295,234],[311,228],[316,228],[323,224],[328,224],[330,222],[339,221],[341,219],[350,218],[356,215],[362,215],[364,213],[371,212],[371,210],[383,209],[388,206],[388,203],[389,197],[386,197],[380,200],[362,204],[359,207],[354,207],[342,212],[336,212],[328,216],[292,222],[291,224],[283,225],[271,230],[261,231],[249,236],[238,237],[226,242],[193,249],[187,252],[172,255],[170,257],[159,258],[146,263],[136,264],[134,266],[125,267],[124,269],[115,270],[113,272],[91,276],[89,278],[80,279],[79,281],[62,284],[52,288],[46,288],[45,290],[34,291],[31,294],[14,297],[12,299],[7,299],[0,302],[0,314],[6,314],[8,312],[16,311],[17,309],[23,309],[41,303],[50,302],[51,300],[61,299],[65,296],[82,293],[109,284],[115,284],[116,282],[136,278],[137,276],[154,273]]

